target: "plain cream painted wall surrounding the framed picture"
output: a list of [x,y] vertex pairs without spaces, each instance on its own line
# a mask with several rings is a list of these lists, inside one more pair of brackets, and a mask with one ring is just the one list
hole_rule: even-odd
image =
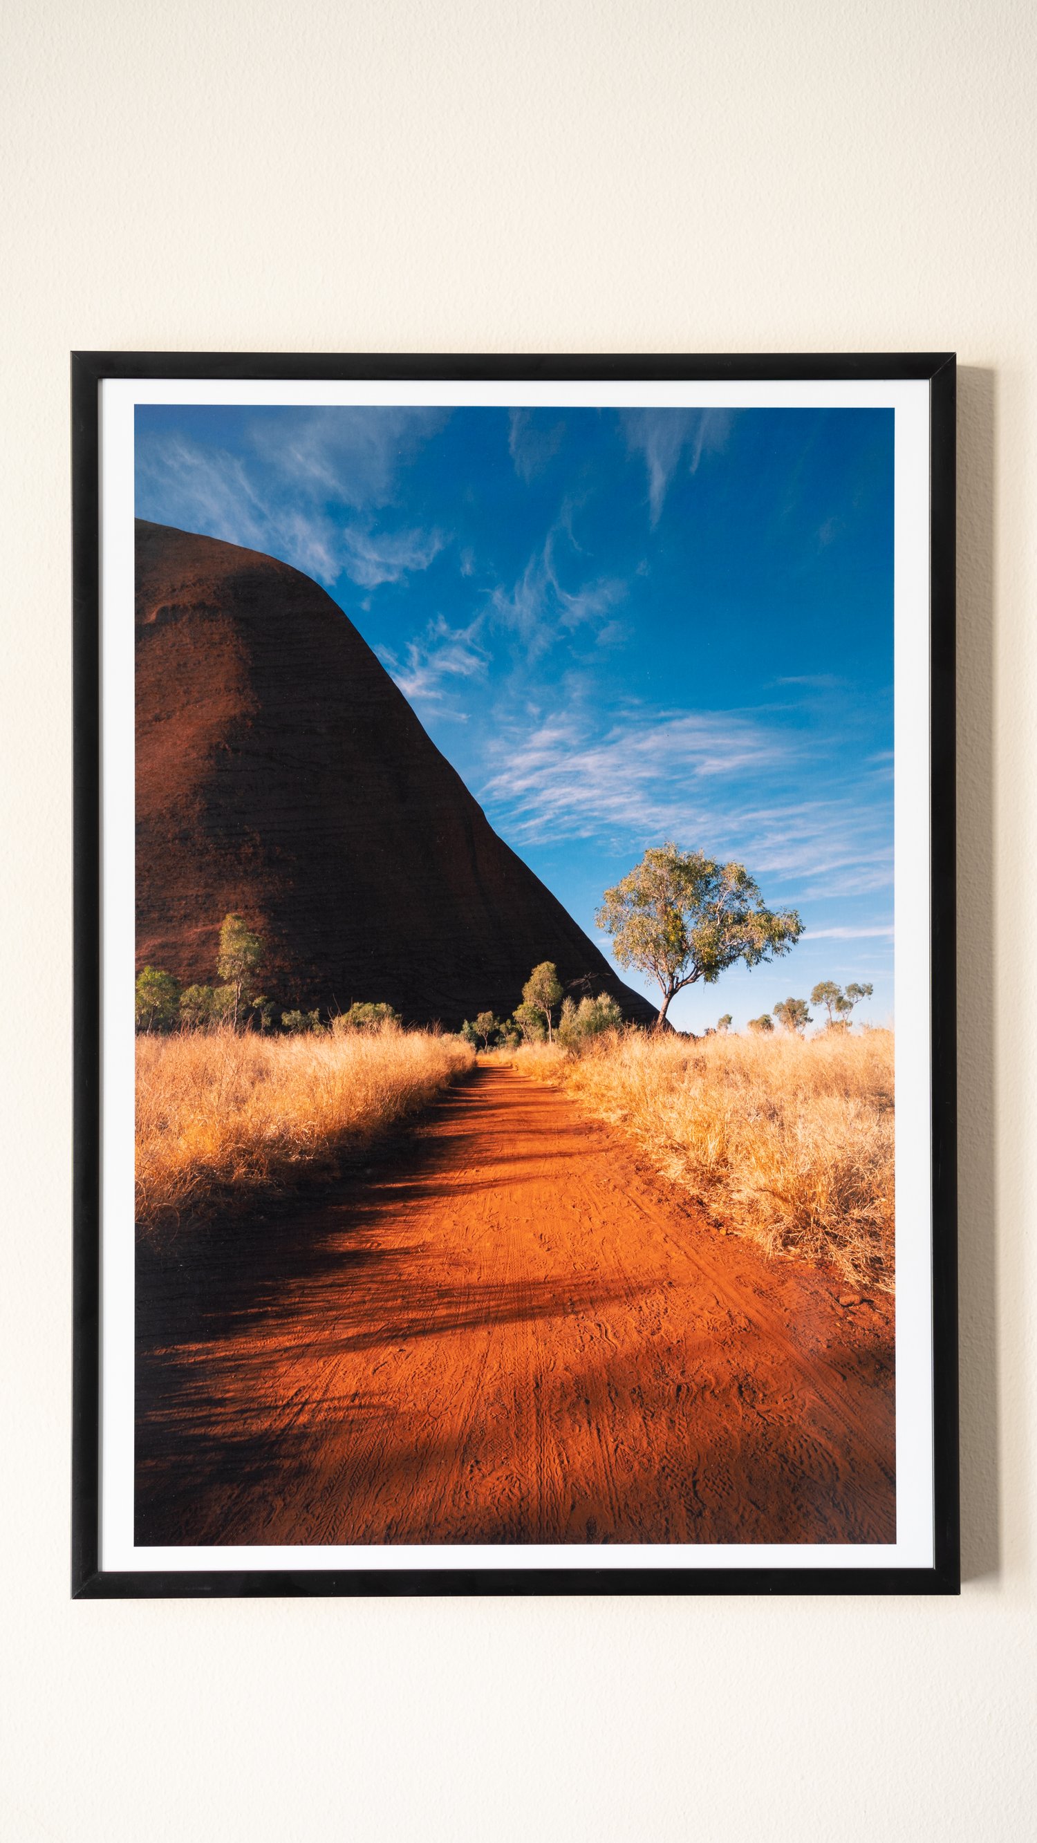
[[[7,0],[0,70],[6,1834],[1033,1834],[1031,7]],[[70,346],[958,348],[960,1602],[68,1602]]]

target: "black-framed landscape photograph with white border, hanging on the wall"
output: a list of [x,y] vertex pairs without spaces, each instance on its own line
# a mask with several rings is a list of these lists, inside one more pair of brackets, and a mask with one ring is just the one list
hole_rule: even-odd
[[952,354],[72,409],[74,1594],[956,1592]]

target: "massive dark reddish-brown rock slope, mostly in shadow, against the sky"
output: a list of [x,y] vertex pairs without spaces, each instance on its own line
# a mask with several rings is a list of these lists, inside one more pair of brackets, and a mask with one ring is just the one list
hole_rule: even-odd
[[488,826],[341,608],[258,551],[136,523],[138,966],[216,977],[219,923],[267,942],[284,1004],[505,1015],[538,960],[630,992]]

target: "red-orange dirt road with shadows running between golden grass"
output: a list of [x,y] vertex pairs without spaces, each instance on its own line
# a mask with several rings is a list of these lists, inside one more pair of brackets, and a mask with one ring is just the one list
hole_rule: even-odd
[[138,1543],[888,1543],[891,1303],[507,1065],[142,1264]]

